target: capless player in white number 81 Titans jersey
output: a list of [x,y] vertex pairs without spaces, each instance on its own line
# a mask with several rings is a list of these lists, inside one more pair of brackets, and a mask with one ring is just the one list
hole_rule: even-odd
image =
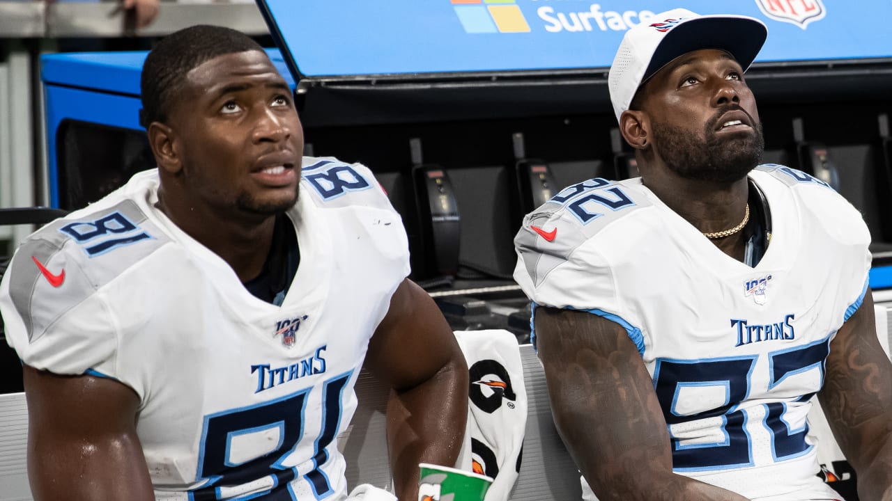
[[365,365],[396,493],[454,465],[467,366],[372,173],[301,158],[260,45],[198,26],[142,73],[158,168],[31,235],[0,285],[35,499],[343,499]]

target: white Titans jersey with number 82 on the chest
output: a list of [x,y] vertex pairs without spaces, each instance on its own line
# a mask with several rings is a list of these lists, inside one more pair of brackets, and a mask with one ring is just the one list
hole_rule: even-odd
[[515,278],[537,305],[626,329],[653,378],[675,472],[750,499],[838,497],[816,476],[806,414],[830,341],[862,303],[870,234],[814,177],[778,165],[749,176],[772,215],[756,267],[640,178],[592,179],[524,219]]

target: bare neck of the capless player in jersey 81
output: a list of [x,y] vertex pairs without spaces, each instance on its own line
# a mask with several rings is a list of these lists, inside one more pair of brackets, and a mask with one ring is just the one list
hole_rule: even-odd
[[260,274],[272,243],[273,215],[233,218],[206,207],[179,207],[181,197],[158,193],[156,207],[181,230],[227,262],[242,282]]

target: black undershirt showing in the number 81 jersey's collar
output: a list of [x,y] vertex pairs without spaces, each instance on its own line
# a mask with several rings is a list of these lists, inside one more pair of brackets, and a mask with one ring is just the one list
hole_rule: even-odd
[[280,306],[301,263],[301,250],[290,218],[278,214],[275,225],[263,269],[260,275],[244,282],[244,288],[260,300]]

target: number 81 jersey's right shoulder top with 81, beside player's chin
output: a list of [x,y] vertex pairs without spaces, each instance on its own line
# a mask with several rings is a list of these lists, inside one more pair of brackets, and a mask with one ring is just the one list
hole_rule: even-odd
[[321,208],[363,206],[391,209],[384,189],[368,167],[334,157],[303,158],[302,193],[308,193]]

